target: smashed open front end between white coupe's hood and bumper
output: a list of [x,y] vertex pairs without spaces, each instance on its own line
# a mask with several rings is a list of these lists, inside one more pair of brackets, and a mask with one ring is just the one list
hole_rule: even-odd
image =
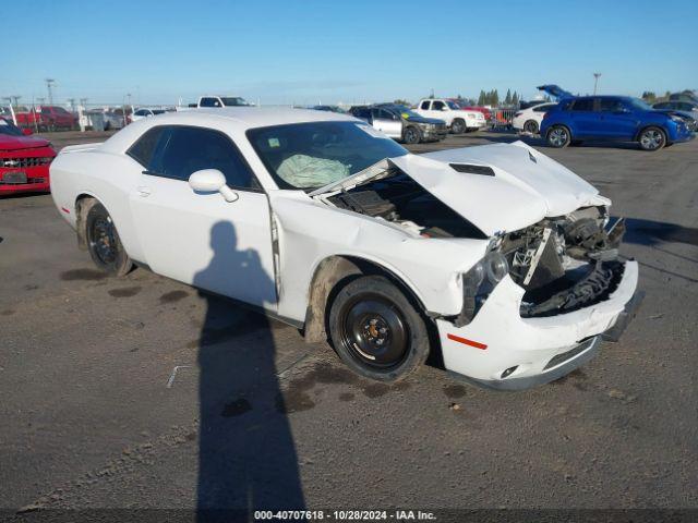
[[521,317],[570,313],[613,293],[625,268],[618,258],[625,221],[607,226],[605,207],[586,207],[502,236],[509,276],[526,291]]

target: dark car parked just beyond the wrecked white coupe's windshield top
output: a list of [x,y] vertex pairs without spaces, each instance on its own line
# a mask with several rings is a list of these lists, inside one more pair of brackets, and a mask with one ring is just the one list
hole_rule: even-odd
[[443,120],[424,118],[405,106],[395,104],[356,106],[349,109],[349,114],[406,144],[436,142],[444,139],[448,134]]

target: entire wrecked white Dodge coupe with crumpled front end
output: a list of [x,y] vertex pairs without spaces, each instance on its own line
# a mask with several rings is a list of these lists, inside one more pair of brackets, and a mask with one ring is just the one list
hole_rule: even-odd
[[233,299],[376,380],[431,351],[479,385],[549,382],[641,299],[611,202],[521,142],[417,156],[332,112],[203,109],[65,147],[50,180],[99,268]]

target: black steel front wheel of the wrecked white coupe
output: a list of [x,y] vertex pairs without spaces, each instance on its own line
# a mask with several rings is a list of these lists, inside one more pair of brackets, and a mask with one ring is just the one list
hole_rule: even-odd
[[329,312],[329,333],[349,368],[378,381],[405,378],[429,355],[422,316],[382,276],[358,278],[339,291]]

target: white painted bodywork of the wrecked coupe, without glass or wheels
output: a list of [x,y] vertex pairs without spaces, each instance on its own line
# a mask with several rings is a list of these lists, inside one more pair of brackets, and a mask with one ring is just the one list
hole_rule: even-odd
[[[607,300],[568,314],[522,318],[524,289],[506,276],[472,323],[456,327],[450,318],[464,306],[462,275],[483,258],[494,236],[580,207],[607,206],[610,200],[520,142],[392,158],[390,163],[490,236],[423,238],[385,219],[330,206],[323,194],[277,187],[245,132],[314,121],[360,122],[324,111],[258,108],[144,119],[104,144],[62,149],[50,168],[52,197],[73,228],[77,198],[99,199],[131,258],[164,276],[257,305],[293,325],[305,321],[312,278],[323,260],[332,256],[370,260],[399,279],[434,318],[446,368],[485,381],[496,381],[513,365],[518,365],[515,377],[544,374],[550,357],[612,327],[633,296],[637,265],[628,262],[621,284]],[[143,166],[125,151],[145,131],[160,124],[226,133],[264,192],[238,191],[237,200],[226,202],[217,193],[194,193],[185,181],[144,174]],[[490,166],[495,175],[457,172],[449,166],[454,162]],[[228,226],[234,227],[234,235]],[[224,235],[219,245],[229,244],[231,251],[221,255],[218,248],[214,256],[209,243],[218,227]],[[228,267],[245,267],[248,258],[266,278],[231,278]],[[455,342],[453,336],[478,340],[486,350]]]

